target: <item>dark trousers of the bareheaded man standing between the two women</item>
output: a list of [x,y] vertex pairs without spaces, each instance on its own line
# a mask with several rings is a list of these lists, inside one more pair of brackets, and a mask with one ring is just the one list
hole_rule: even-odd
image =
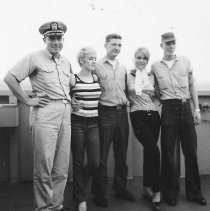
[[107,159],[111,143],[114,149],[114,182],[117,193],[126,190],[128,167],[126,165],[128,148],[128,113],[126,107],[121,109],[99,106],[100,131],[100,167],[98,174],[98,197],[105,198],[107,193]]

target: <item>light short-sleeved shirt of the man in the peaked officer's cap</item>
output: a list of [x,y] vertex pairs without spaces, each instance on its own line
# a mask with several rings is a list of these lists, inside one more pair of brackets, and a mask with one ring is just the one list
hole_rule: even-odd
[[29,77],[33,95],[70,100],[70,62],[63,56],[54,60],[46,51],[34,52],[18,62],[9,72],[21,82]]

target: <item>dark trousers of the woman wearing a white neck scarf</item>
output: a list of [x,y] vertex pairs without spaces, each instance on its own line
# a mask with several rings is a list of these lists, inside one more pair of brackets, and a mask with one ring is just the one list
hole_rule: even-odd
[[143,185],[160,191],[160,150],[157,146],[160,133],[158,111],[135,111],[130,113],[134,134],[144,147]]

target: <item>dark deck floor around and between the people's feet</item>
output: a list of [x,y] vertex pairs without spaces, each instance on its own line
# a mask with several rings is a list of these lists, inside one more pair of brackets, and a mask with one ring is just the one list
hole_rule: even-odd
[[[202,192],[208,205],[199,206],[185,200],[184,179],[180,181],[180,194],[176,207],[169,207],[162,204],[162,211],[209,211],[210,210],[210,175],[201,176]],[[108,200],[109,206],[101,208],[94,204],[93,197],[88,189],[88,211],[151,211],[151,205],[141,196],[142,177],[128,180],[128,189],[136,196],[134,203],[123,201],[117,198],[112,191],[112,180],[109,180]],[[66,186],[64,206],[72,207],[72,184]],[[33,187],[32,182],[21,182],[10,185],[0,184],[0,211],[33,211]]]

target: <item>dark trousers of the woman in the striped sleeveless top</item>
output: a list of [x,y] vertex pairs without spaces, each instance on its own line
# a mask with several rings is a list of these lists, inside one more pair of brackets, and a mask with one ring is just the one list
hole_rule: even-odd
[[[76,204],[86,201],[86,183],[92,176],[95,189],[96,169],[100,159],[100,138],[97,117],[80,117],[72,114],[71,149],[73,155],[73,198]],[[85,151],[87,165],[84,166]],[[65,161],[64,161],[65,162]]]

